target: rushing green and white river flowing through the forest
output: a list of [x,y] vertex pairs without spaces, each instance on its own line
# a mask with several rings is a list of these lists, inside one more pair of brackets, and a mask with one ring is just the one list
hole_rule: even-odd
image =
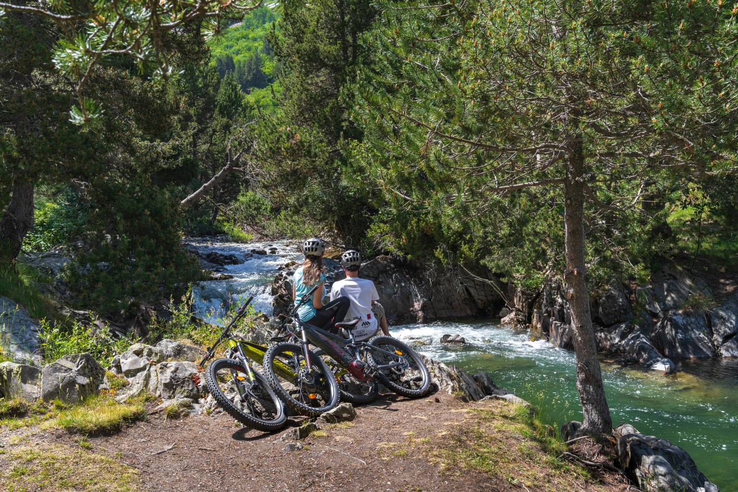
[[[256,307],[271,312],[271,285],[277,268],[300,261],[294,243],[225,243],[189,240],[196,249],[245,255],[276,247],[277,254],[255,254],[227,266],[231,280],[201,283],[193,294],[196,309],[217,319],[223,302],[255,294]],[[470,373],[486,371],[498,386],[533,403],[543,420],[558,428],[581,420],[574,355],[531,334],[497,325],[494,320],[435,322],[390,327],[393,336],[418,345],[427,356],[456,364]],[[464,345],[439,343],[444,333],[458,333]],[[602,360],[607,402],[613,423],[628,422],[686,449],[708,479],[723,492],[738,491],[738,360],[675,361],[678,372],[663,376],[638,367]]]

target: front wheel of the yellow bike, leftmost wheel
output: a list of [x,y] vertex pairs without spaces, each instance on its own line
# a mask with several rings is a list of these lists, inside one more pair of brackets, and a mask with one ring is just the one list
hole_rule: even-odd
[[205,384],[221,409],[246,426],[264,432],[282,429],[287,421],[282,401],[263,375],[254,371],[255,381],[241,362],[218,358],[205,371]]

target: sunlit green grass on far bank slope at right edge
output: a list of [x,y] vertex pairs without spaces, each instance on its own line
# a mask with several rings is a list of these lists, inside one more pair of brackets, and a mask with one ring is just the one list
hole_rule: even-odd
[[697,252],[700,238],[699,256],[711,263],[728,268],[738,268],[738,230],[723,226],[720,221],[704,213],[701,236],[699,216],[694,208],[675,208],[666,219],[674,232],[678,249],[686,254]]

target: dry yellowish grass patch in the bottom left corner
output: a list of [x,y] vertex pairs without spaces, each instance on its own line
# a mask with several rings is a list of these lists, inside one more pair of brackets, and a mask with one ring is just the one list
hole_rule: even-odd
[[139,471],[84,446],[41,443],[7,452],[13,466],[0,472],[0,491],[137,492]]

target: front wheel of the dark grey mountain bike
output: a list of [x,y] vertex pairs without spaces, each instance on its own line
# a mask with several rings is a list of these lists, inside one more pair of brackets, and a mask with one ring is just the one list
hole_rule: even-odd
[[303,346],[289,342],[273,345],[264,354],[263,371],[282,401],[295,412],[317,417],[339,401],[338,384],[320,357]]

